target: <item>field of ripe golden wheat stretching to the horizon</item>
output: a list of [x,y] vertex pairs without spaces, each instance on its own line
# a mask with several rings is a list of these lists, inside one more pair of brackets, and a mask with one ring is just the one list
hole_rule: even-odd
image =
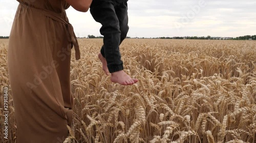
[[[120,46],[131,86],[110,81],[97,54],[102,39],[79,39],[72,50],[75,101],[65,142],[256,142],[256,42],[126,39]],[[10,87],[8,40],[0,40],[0,138],[15,142],[9,89],[4,139],[3,87]]]

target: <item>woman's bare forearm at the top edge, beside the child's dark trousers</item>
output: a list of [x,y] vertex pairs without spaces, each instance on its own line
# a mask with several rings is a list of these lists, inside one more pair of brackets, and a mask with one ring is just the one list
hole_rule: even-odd
[[92,0],[66,0],[75,10],[87,12],[92,4]]

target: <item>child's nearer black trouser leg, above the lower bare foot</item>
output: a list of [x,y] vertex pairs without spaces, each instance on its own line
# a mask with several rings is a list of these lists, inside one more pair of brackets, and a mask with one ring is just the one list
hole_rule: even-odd
[[119,20],[115,12],[115,3],[116,2],[112,0],[95,0],[90,8],[90,12],[95,21],[102,24],[100,34],[104,37],[104,47],[101,50],[101,54],[108,63],[110,73],[123,70],[123,62],[121,61],[119,52],[121,32]]

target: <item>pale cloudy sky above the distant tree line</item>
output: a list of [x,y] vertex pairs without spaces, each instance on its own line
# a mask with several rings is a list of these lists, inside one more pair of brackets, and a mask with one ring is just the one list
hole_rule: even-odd
[[[0,36],[9,36],[18,2],[0,0]],[[255,0],[129,0],[129,37],[256,35]],[[90,12],[67,10],[77,37],[100,36]]]

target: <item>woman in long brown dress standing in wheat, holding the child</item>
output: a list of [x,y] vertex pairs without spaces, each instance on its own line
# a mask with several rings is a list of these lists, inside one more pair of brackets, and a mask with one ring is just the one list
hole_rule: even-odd
[[79,47],[65,10],[87,12],[92,0],[19,0],[8,47],[18,143],[57,143],[73,117],[71,48]]

